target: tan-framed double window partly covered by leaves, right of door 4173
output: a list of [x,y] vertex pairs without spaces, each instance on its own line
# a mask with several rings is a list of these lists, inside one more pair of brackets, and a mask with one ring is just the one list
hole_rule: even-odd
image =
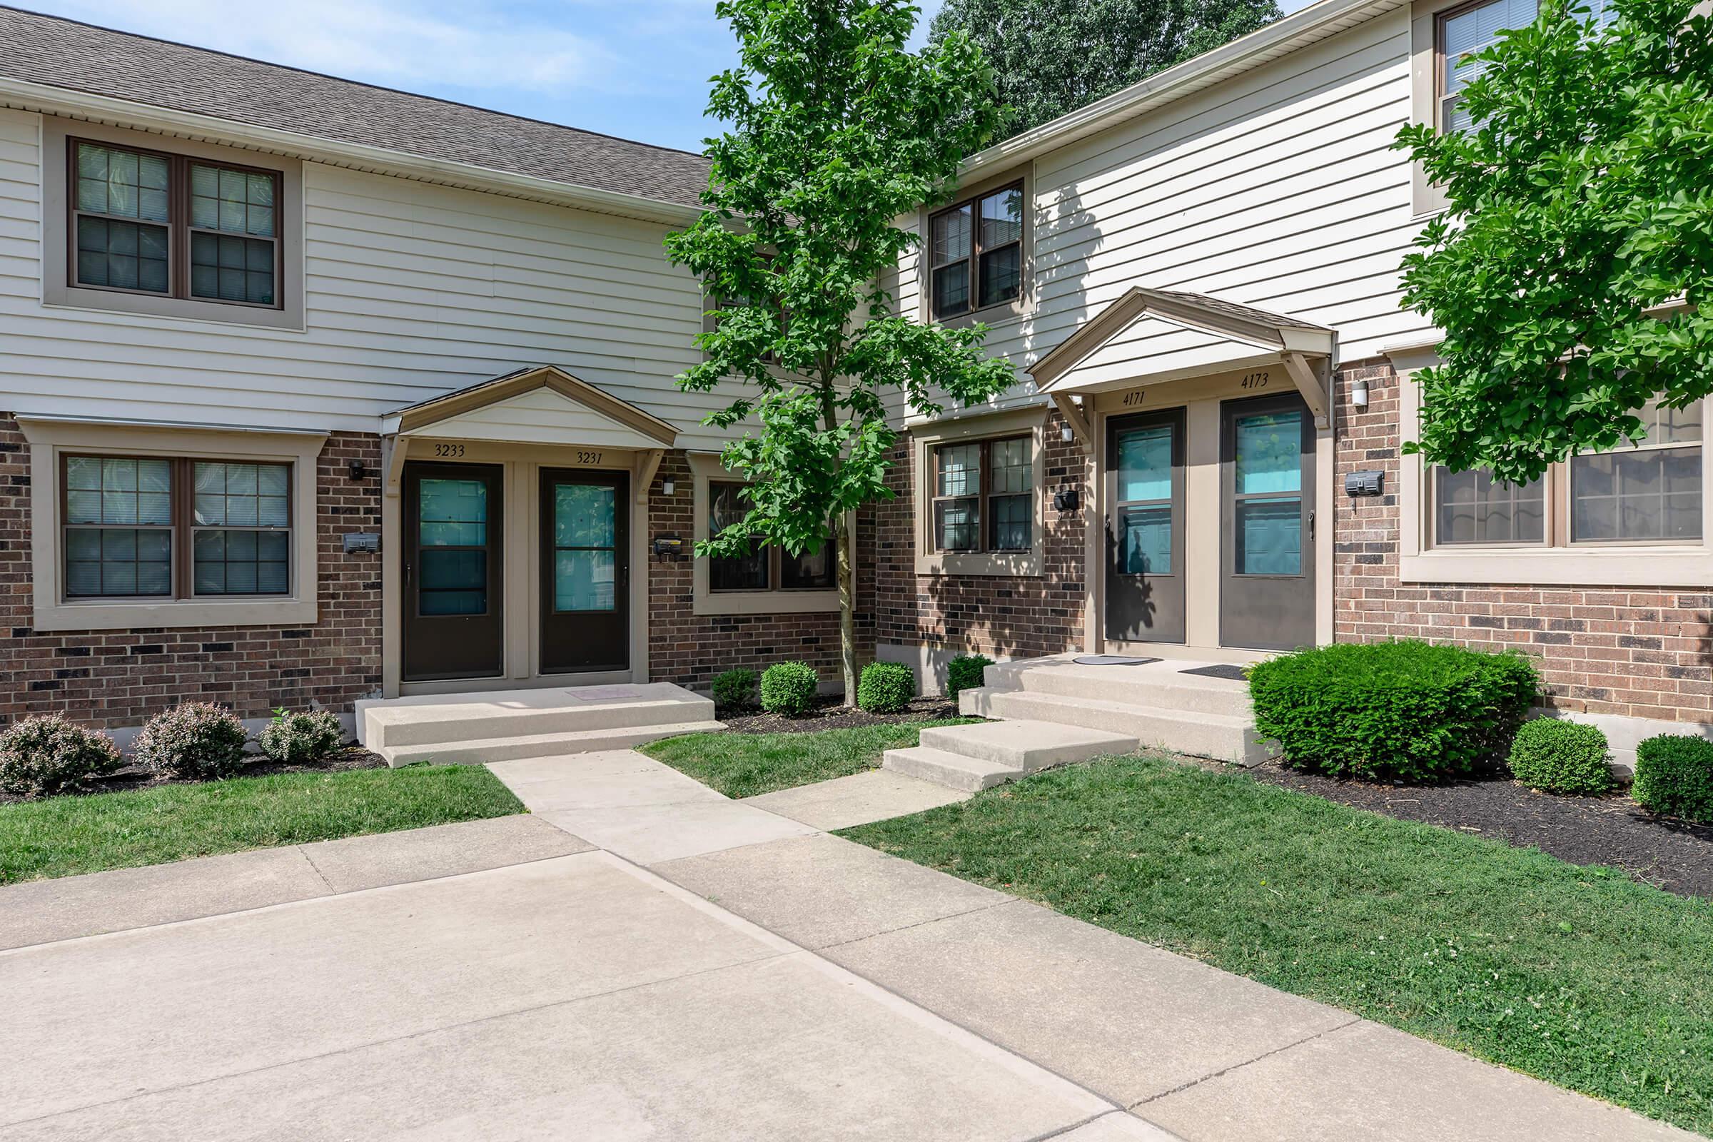
[[1687,544],[1703,538],[1703,402],[1650,401],[1639,440],[1573,455],[1526,485],[1430,469],[1434,546]]

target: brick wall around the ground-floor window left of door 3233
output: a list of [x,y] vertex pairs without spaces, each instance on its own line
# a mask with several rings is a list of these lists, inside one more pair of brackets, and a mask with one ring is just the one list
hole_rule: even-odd
[[0,723],[62,711],[101,726],[135,726],[182,699],[260,717],[319,702],[348,711],[380,688],[380,560],[346,556],[348,531],[380,531],[377,437],[337,433],[319,461],[315,544],[320,610],[312,627],[31,630],[29,449],[0,418]]

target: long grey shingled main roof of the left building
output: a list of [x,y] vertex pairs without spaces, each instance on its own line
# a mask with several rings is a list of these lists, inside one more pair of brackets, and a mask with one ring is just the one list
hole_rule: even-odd
[[697,205],[707,159],[0,7],[0,75],[529,178]]

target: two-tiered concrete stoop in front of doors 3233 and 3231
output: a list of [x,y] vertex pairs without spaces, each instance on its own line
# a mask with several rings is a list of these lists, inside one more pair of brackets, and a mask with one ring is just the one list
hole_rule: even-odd
[[425,693],[356,704],[356,736],[389,765],[480,765],[629,750],[725,729],[713,700],[666,681]]

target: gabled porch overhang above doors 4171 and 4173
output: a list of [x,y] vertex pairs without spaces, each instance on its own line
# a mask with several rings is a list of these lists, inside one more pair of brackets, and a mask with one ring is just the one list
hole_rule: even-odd
[[1072,394],[1276,365],[1324,428],[1324,373],[1336,346],[1338,334],[1326,325],[1206,294],[1132,286],[1042,356],[1030,375],[1060,409],[1074,409]]

